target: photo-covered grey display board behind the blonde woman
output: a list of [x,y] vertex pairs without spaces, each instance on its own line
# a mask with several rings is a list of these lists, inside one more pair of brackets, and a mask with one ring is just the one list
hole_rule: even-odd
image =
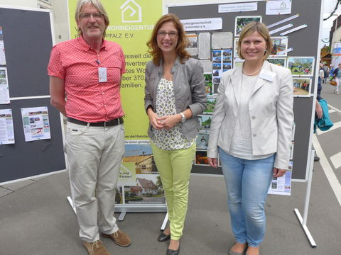
[[[271,1],[258,0],[247,3],[246,1],[219,1],[216,4],[183,4],[167,7],[168,13],[175,13],[185,25],[185,29],[190,35],[190,52],[193,52],[193,57],[204,60],[203,64],[212,61],[212,63],[208,62],[207,67],[211,68],[207,74],[212,73],[212,77],[207,79],[207,98],[210,103],[215,101],[215,92],[222,72],[242,64],[237,58],[236,47],[244,23],[256,20],[267,26],[275,24],[269,28],[271,39],[276,45],[270,61],[291,69],[294,80],[293,110],[296,125],[293,128],[295,134],[293,137],[292,178],[306,180],[308,154],[311,147],[313,98],[318,81],[316,69],[318,69],[319,60],[317,49],[321,1],[283,1],[277,9],[274,6],[266,8],[268,3]],[[297,30],[282,35],[293,28]],[[230,33],[219,34],[222,32]],[[222,46],[220,46],[220,40]],[[200,49],[207,43],[210,45],[209,52]],[[207,116],[210,116],[210,113],[202,116],[204,116],[203,123],[205,124],[202,125],[202,129],[208,132],[207,118],[209,117]],[[200,158],[200,161],[196,160],[193,172],[221,174],[221,169],[212,169],[205,164],[205,153],[205,149],[197,148],[197,158]]]

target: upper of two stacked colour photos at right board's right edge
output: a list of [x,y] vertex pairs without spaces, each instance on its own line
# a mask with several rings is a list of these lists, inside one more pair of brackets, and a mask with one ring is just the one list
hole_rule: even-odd
[[288,57],[287,68],[293,76],[312,77],[314,73],[315,57]]

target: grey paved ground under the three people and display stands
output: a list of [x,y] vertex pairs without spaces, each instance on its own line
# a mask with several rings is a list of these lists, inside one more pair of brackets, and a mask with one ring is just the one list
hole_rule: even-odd
[[[22,184],[22,187],[20,185]],[[293,183],[292,196],[269,196],[268,227],[262,255],[340,254],[341,210],[319,163],[315,163],[308,211],[308,228],[318,247],[310,247],[294,208],[303,213],[305,183]],[[77,235],[77,220],[66,197],[67,173],[36,181],[6,185],[0,198],[1,255],[86,254]],[[227,254],[234,242],[221,177],[192,176],[190,205],[182,255]],[[118,217],[118,215],[117,215]],[[166,245],[156,241],[164,213],[128,213],[119,226],[133,244],[121,248],[104,240],[112,254],[166,254]]]

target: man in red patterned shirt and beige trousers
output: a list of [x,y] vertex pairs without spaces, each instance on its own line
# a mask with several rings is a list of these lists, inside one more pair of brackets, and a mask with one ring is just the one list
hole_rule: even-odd
[[67,116],[65,152],[80,238],[90,255],[106,255],[99,232],[119,246],[131,244],[114,217],[124,154],[119,92],[125,60],[117,43],[104,40],[109,18],[99,0],[78,1],[75,19],[79,37],[51,52],[51,104]]

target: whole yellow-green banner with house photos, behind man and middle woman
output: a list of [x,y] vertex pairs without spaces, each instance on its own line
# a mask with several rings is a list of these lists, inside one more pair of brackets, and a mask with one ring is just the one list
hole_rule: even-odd
[[[162,0],[102,0],[102,4],[110,21],[105,40],[121,45],[126,59],[126,74],[121,81],[126,153],[116,201],[122,205],[165,204],[162,183],[148,143],[148,117],[144,110],[144,70],[151,60],[146,42],[162,16]],[[74,18],[77,0],[69,0],[68,5],[70,38],[77,38]]]

